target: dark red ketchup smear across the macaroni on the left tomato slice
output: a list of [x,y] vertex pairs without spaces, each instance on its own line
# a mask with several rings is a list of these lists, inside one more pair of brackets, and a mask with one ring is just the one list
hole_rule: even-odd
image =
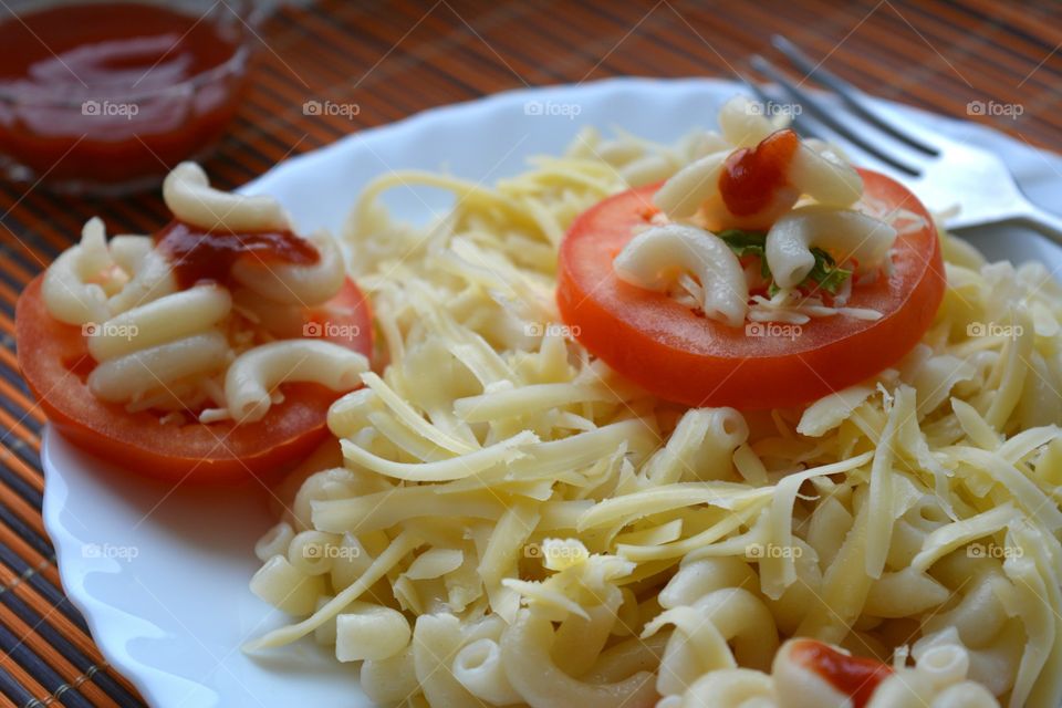
[[243,253],[256,253],[267,263],[306,266],[321,259],[310,241],[288,230],[233,233],[171,221],[155,235],[155,243],[166,253],[183,289],[202,281],[227,282],[232,264]]

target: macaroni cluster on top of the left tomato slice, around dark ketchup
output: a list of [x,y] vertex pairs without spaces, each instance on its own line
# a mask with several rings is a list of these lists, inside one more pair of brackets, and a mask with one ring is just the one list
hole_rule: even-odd
[[[218,191],[194,163],[175,168],[163,191],[177,219],[201,229],[288,228],[274,199]],[[101,400],[129,410],[198,408],[204,423],[253,421],[282,383],[344,392],[368,369],[365,356],[344,346],[293,339],[303,334],[303,310],[330,300],[345,279],[331,237],[317,233],[311,242],[320,253],[313,264],[240,258],[231,273],[236,291],[227,283],[180,290],[174,264],[149,237],[108,243],[103,222],[92,219],[81,242],[45,272],[42,295],[52,316],[83,326],[97,363],[87,384]]]

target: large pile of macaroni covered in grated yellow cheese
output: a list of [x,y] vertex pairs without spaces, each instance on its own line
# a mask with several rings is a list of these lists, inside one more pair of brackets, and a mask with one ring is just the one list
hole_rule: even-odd
[[[387,365],[333,405],[339,452],[302,469],[256,549],[252,590],[298,620],[248,650],[316,633],[389,706],[853,705],[823,652],[866,662],[871,708],[1059,705],[1062,419],[1043,382],[1062,381],[1062,289],[1042,267],[941,233],[948,291],[923,343],[795,409],[668,404],[560,324],[566,226],[666,171],[684,188],[659,206],[686,212],[719,150],[777,128],[741,105],[721,136],[670,147],[584,132],[493,188],[367,188],[344,238]],[[778,227],[791,280],[836,222],[870,237],[861,263],[904,228],[837,211],[854,173],[809,149],[801,169],[832,177],[806,194],[831,211]],[[377,202],[399,184],[458,201],[417,229]],[[691,227],[649,228],[681,246]],[[743,321],[743,298],[704,298]],[[306,548],[334,560],[300,563]]]

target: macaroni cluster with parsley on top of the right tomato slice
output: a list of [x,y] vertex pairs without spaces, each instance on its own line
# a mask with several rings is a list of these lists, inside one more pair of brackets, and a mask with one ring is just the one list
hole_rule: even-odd
[[[800,142],[785,167],[787,184],[770,194],[760,211],[736,216],[719,188],[728,159],[735,150],[752,148],[784,127],[784,121],[767,118],[757,104],[737,96],[720,110],[719,126],[721,138],[712,145],[719,149],[679,169],[654,195],[663,215],[657,220],[667,223],[650,227],[627,243],[614,261],[616,277],[677,294],[680,302],[729,326],[742,325],[747,316],[754,322],[796,324],[810,316],[839,314],[873,319],[877,313],[845,309],[844,298],[830,306],[815,295],[790,302],[815,264],[813,248],[824,249],[839,263],[857,263],[863,274],[886,267],[897,230],[852,208],[863,196],[858,173],[833,148]],[[799,206],[801,198],[809,204]],[[757,295],[752,303],[758,306],[750,309],[748,278],[740,269],[735,272],[733,254],[706,227],[722,231],[761,228],[764,222],[770,229],[762,258],[782,293],[770,301]],[[726,294],[725,308],[718,305],[720,292]]]

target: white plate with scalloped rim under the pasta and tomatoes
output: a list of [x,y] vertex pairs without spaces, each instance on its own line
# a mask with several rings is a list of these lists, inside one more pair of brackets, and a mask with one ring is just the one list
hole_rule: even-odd
[[[555,153],[583,125],[620,126],[675,139],[705,124],[739,90],[722,81],[623,79],[519,91],[423,113],[294,157],[248,185],[277,196],[305,231],[337,228],[361,188],[389,169],[447,169],[492,181],[523,159]],[[1047,201],[1062,183],[1062,160],[991,131],[905,111],[933,127],[999,152],[1033,198]],[[391,195],[414,220],[446,208],[430,190]],[[976,240],[995,258],[1062,254],[1030,233],[985,232]],[[272,523],[268,494],[171,490],[125,473],[46,431],[44,523],[60,574],[103,655],[152,706],[368,706],[356,673],[310,642],[248,657],[240,645],[283,622],[247,589],[257,570],[254,540]]]

